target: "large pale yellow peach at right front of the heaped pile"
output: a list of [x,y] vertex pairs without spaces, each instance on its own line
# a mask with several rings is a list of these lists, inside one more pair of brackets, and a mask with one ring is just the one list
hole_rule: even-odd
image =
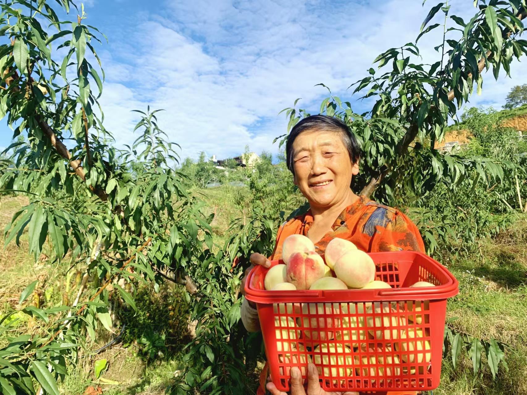
[[363,251],[346,252],[335,263],[337,278],[344,281],[348,287],[362,288],[375,280],[375,263]]

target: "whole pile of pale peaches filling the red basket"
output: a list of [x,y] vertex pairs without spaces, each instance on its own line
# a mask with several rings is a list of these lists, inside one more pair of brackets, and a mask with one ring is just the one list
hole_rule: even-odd
[[[344,239],[331,240],[325,251],[324,258],[315,252],[315,245],[306,236],[295,234],[289,236],[282,245],[282,260],[285,264],[273,266],[267,272],[264,279],[266,290],[347,290],[347,289],[383,289],[392,288],[384,281],[375,280],[375,264],[368,254],[356,248],[355,244]],[[411,287],[434,287],[434,284],[419,281]],[[353,301],[349,301],[353,302]],[[397,306],[399,304],[399,306]],[[420,301],[407,301],[406,306],[413,313],[421,311]],[[297,322],[292,317],[276,318],[275,327],[278,352],[280,361],[286,363],[301,363],[313,361],[320,365],[324,363],[324,375],[329,376],[352,376],[352,369],[345,371],[346,364],[357,366],[361,361],[347,345],[353,344],[354,350],[359,348],[360,340],[383,340],[378,342],[377,347],[366,344],[360,345],[362,364],[393,365],[384,368],[367,367],[357,368],[356,374],[363,376],[388,376],[400,374],[397,366],[401,356],[404,363],[421,363],[431,360],[430,341],[418,340],[425,335],[421,328],[407,328],[408,323],[420,325],[423,322],[422,314],[401,315],[394,314],[405,308],[404,302],[365,302],[365,303],[279,303],[275,306],[276,312],[284,314],[300,315]],[[366,309],[366,310],[365,310]],[[364,314],[366,312],[366,314]],[[375,314],[373,314],[375,312]],[[354,317],[354,314],[356,315]],[[325,316],[324,316],[325,315]],[[347,315],[347,317],[346,317]],[[383,317],[379,317],[383,315]],[[338,317],[338,318],[337,318]],[[298,326],[297,326],[298,324]],[[304,328],[300,331],[299,327]],[[403,327],[403,328],[401,328]],[[307,330],[306,328],[309,328]],[[304,352],[304,345],[298,342],[301,332],[303,341],[309,343],[313,348],[313,357],[309,353],[297,354],[289,351]],[[429,335],[426,333],[426,335]],[[339,343],[324,343],[324,341],[336,339],[343,341]],[[415,339],[415,340],[412,340]],[[286,340],[286,341],[285,341]],[[289,341],[287,341],[289,340]],[[386,342],[388,340],[388,342]],[[397,352],[396,355],[379,355],[386,351]],[[377,352],[368,357],[365,352]],[[344,353],[345,356],[337,356],[336,352]],[[355,354],[355,355],[354,355]],[[306,361],[307,356],[307,361]],[[300,360],[298,360],[300,358]],[[386,358],[386,361],[384,360]],[[394,371],[392,371],[394,369]],[[287,369],[288,371],[289,369]],[[319,372],[322,370],[319,368]],[[414,374],[415,368],[404,373]],[[285,372],[287,374],[288,372]],[[302,372],[305,373],[305,372]]]

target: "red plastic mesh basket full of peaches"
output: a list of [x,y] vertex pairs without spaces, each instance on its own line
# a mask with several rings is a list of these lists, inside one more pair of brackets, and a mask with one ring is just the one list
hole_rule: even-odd
[[[432,390],[439,385],[446,298],[458,292],[439,262],[412,251],[369,254],[392,289],[266,291],[269,269],[249,273],[272,381],[289,391],[291,367],[318,368],[326,391]],[[272,261],[271,267],[283,263]],[[408,288],[417,281],[435,287]]]

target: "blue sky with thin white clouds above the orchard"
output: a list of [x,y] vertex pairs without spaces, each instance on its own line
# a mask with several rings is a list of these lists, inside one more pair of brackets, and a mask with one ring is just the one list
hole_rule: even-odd
[[[274,137],[285,132],[284,107],[317,113],[327,96],[348,100],[354,111],[371,108],[346,88],[367,75],[373,59],[392,46],[415,41],[430,7],[421,0],[89,0],[87,24],[108,36],[95,46],[106,72],[101,105],[105,127],[118,144],[135,136],[136,113],[164,108],[160,126],[181,145],[181,156],[200,151],[219,159],[251,151],[276,153]],[[454,0],[462,17],[472,2]],[[419,40],[424,63],[439,55],[440,29]],[[510,88],[527,81],[515,62],[512,77],[484,79],[472,105],[501,108]],[[0,145],[11,134],[2,133]]]

